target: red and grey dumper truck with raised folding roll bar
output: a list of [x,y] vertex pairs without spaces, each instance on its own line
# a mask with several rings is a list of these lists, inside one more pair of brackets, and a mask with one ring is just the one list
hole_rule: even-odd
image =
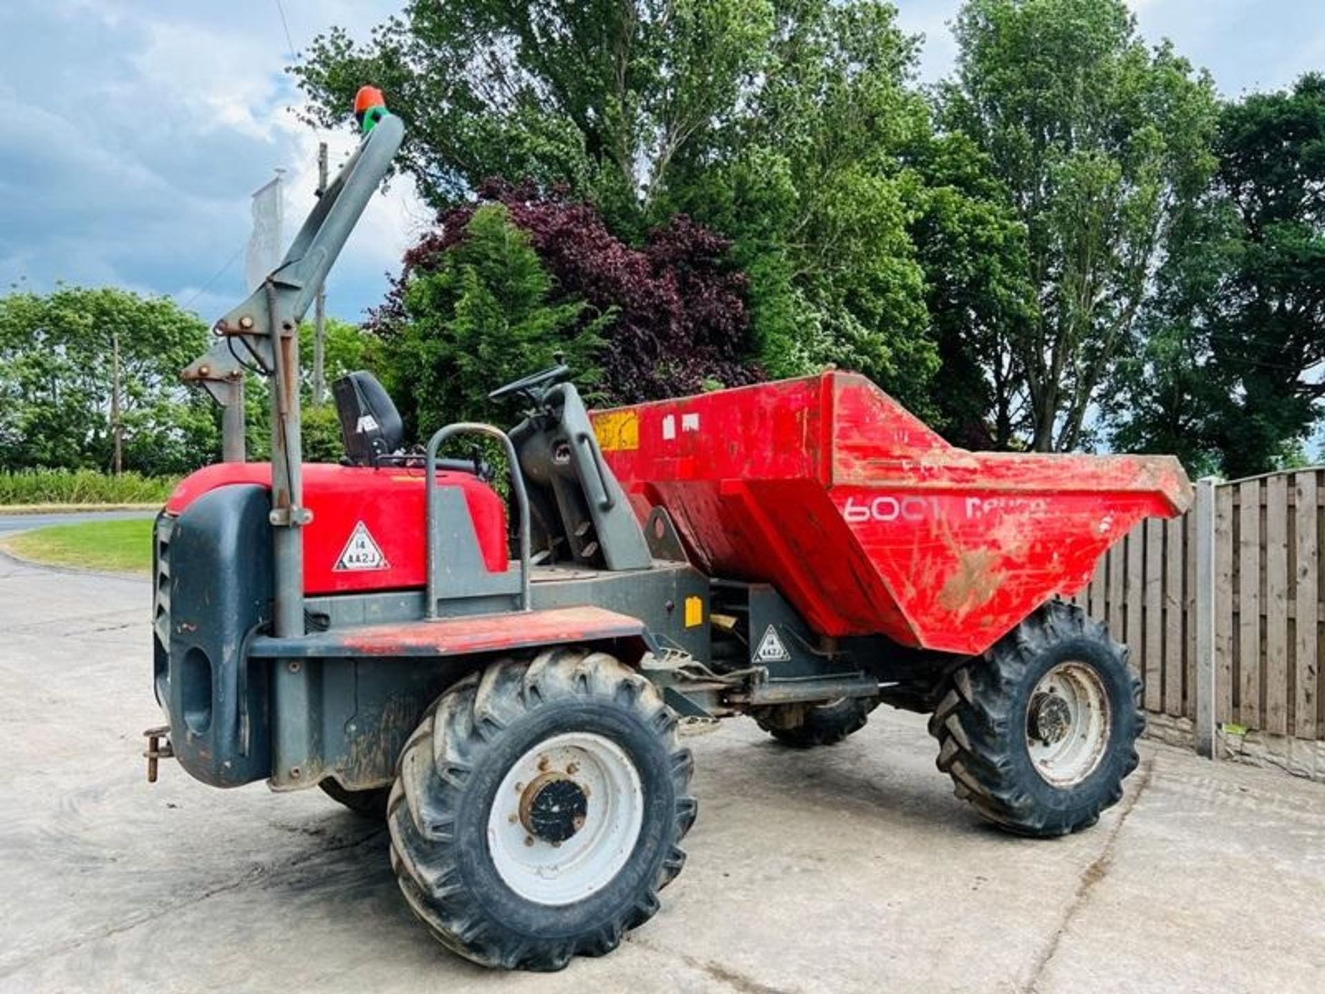
[[[352,374],[346,459],[305,465],[297,327],[401,134],[376,121],[186,371],[223,400],[241,360],[269,378],[272,460],[192,474],[156,520],[150,775],[172,755],[384,818],[433,936],[535,970],[659,911],[697,810],[686,725],[822,746],[888,704],[930,714],[1002,828],[1118,801],[1138,683],[1060,598],[1187,506],[1173,459],[965,452],[844,372],[591,414],[556,367],[493,392],[513,428],[427,440]],[[443,459],[469,436],[504,480]]]

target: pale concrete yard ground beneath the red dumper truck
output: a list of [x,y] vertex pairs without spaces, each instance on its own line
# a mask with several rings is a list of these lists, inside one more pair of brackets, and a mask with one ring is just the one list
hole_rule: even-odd
[[893,712],[806,753],[749,721],[693,738],[700,818],[657,917],[559,974],[482,970],[319,791],[144,782],[148,591],[0,558],[0,990],[1325,989],[1325,787],[1146,745],[1096,828],[1030,842]]

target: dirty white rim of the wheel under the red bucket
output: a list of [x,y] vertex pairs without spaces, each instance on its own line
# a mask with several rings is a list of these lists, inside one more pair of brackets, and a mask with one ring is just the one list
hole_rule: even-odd
[[1109,694],[1093,667],[1059,663],[1031,692],[1026,746],[1040,777],[1056,787],[1080,783],[1109,747]]

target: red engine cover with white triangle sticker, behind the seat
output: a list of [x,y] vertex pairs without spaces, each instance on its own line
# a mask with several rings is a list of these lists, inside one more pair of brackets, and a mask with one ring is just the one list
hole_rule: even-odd
[[[229,484],[270,486],[269,463],[219,463],[186,477],[166,513],[179,516],[204,493]],[[464,493],[484,565],[505,573],[506,506],[470,473],[440,472],[439,488]],[[346,594],[424,586],[424,472],[399,467],[303,467],[303,592]]]

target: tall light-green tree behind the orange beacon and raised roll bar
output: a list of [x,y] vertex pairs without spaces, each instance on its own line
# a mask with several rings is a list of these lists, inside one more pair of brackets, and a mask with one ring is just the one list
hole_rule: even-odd
[[372,81],[408,126],[403,168],[445,208],[493,176],[570,183],[641,232],[674,158],[759,69],[768,0],[411,0],[366,44],[341,28],[293,68],[311,118]]

